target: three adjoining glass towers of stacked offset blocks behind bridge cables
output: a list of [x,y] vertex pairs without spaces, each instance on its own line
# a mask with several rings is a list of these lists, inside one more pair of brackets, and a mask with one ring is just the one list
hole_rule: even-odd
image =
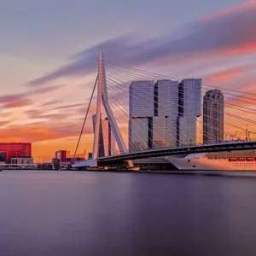
[[197,143],[201,79],[133,81],[129,87],[129,152]]

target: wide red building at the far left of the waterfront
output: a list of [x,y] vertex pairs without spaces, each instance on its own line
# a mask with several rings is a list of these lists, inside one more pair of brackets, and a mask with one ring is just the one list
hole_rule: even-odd
[[31,143],[0,143],[0,161],[10,162],[14,158],[31,158]]

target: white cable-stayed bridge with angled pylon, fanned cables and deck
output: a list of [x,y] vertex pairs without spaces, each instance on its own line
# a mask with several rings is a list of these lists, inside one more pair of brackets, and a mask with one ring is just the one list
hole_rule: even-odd
[[79,137],[96,108],[92,157],[73,166],[255,149],[255,103],[253,93],[115,66],[100,53]]

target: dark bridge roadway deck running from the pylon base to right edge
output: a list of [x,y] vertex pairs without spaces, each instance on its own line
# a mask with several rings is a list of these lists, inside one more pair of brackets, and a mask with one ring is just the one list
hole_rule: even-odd
[[201,146],[189,146],[179,148],[163,148],[148,151],[140,151],[125,154],[115,154],[107,157],[97,158],[98,162],[113,162],[119,160],[137,160],[150,157],[159,157],[177,154],[197,154],[197,153],[210,153],[220,151],[233,151],[233,150],[247,150],[256,149],[256,141],[252,142],[229,142],[229,143],[212,143]]

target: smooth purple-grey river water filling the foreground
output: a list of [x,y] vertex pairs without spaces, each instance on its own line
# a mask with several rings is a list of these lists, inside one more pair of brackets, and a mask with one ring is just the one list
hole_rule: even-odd
[[256,255],[256,178],[0,172],[0,255]]

